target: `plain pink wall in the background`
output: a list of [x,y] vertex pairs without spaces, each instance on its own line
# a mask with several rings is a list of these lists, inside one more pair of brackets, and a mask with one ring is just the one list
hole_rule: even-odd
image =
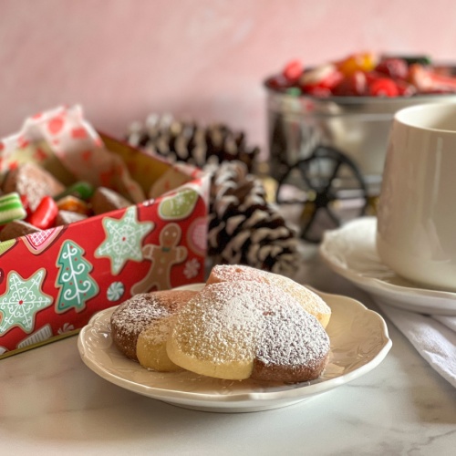
[[1,0],[0,137],[83,106],[122,137],[150,112],[245,130],[265,149],[264,77],[357,50],[456,60],[454,0]]

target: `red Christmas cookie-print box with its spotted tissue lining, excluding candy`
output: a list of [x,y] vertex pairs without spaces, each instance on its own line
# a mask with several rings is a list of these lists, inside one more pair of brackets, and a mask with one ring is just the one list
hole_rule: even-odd
[[0,140],[2,178],[27,161],[132,203],[0,243],[0,358],[73,335],[131,295],[202,282],[207,174],[98,134],[78,107]]

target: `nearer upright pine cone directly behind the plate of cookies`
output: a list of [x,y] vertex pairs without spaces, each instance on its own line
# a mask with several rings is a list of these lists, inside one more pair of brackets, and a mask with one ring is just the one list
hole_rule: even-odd
[[297,238],[261,181],[240,161],[212,170],[208,254],[221,263],[248,264],[290,275],[297,267]]

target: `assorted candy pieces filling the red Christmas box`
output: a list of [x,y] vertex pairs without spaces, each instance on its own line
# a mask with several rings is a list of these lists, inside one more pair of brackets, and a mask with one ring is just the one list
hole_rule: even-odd
[[31,162],[9,171],[1,191],[0,241],[132,204],[118,192],[106,187],[95,189],[85,181],[65,188],[52,174]]

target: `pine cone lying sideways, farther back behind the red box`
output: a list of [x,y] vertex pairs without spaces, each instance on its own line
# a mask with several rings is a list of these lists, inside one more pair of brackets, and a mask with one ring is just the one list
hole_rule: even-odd
[[144,124],[134,122],[127,135],[134,147],[153,150],[170,161],[187,161],[199,168],[207,163],[243,161],[254,171],[258,148],[248,148],[244,132],[233,132],[223,124],[207,127],[171,115],[151,114]]

